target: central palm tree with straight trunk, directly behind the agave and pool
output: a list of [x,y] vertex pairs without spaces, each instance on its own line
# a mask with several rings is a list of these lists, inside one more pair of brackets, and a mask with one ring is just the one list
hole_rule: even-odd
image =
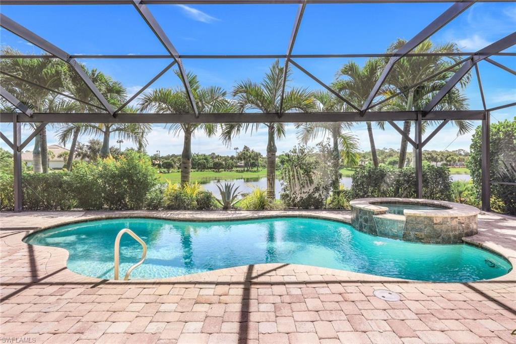
[[[265,74],[262,82],[255,83],[251,80],[242,81],[233,88],[234,102],[239,112],[247,110],[258,110],[263,113],[279,113],[281,90],[283,86],[283,70],[280,67],[279,60],[273,62],[269,71]],[[287,72],[288,77],[291,72]],[[311,112],[315,110],[315,102],[311,92],[307,89],[292,87],[285,91],[283,97],[283,111],[302,111]],[[276,180],[276,138],[280,139],[285,136],[284,123],[256,123],[252,126],[249,124],[231,123],[225,124],[222,131],[222,140],[225,143],[231,142],[231,137],[237,135],[242,129],[245,131],[257,130],[261,125],[267,128],[267,197],[269,199],[276,198],[275,180]]]

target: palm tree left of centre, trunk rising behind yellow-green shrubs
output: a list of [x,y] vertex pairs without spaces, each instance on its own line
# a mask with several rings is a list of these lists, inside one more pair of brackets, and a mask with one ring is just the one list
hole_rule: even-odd
[[[181,79],[179,72],[176,75]],[[188,72],[186,77],[190,84],[197,110],[200,113],[230,113],[234,112],[231,102],[226,99],[227,93],[220,87],[201,87],[197,75]],[[158,88],[144,93],[139,106],[141,111],[153,110],[156,113],[187,114],[192,113],[187,94],[182,88]],[[209,137],[217,132],[214,123],[173,123],[169,132],[174,136],[183,133],[183,152],[181,153],[181,184],[190,182],[191,171],[191,140],[196,131],[204,131]]]

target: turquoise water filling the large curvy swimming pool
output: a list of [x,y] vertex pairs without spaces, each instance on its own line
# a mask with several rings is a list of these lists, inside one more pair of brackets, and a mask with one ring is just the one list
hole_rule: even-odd
[[[374,275],[471,282],[506,274],[511,265],[469,245],[425,245],[370,236],[351,225],[311,218],[230,222],[179,222],[123,218],[71,224],[31,234],[25,242],[70,252],[70,270],[113,278],[117,233],[130,228],[148,245],[147,259],[131,279],[180,276],[257,263],[296,263]],[[120,275],[141,257],[125,234]]]

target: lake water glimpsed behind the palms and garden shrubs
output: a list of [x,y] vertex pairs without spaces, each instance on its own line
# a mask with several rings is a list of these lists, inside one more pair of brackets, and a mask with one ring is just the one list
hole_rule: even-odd
[[[470,180],[470,175],[450,175],[451,179],[455,180]],[[219,195],[219,190],[217,189],[217,184],[224,183],[235,183],[238,185],[238,191],[242,193],[248,193],[252,191],[253,187],[260,187],[261,189],[267,188],[267,178],[240,178],[240,179],[211,179],[211,180],[198,180],[199,183],[202,184],[204,190],[211,191],[215,195]],[[346,189],[351,187],[351,177],[343,177],[341,178],[341,184],[343,184]],[[279,197],[281,191],[281,184],[278,179],[276,179],[276,197]]]

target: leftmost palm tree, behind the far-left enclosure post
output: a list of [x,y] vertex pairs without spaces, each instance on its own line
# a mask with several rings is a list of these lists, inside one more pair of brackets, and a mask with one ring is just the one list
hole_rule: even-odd
[[[2,54],[22,55],[20,51],[10,47],[2,48]],[[57,91],[65,88],[70,77],[66,63],[53,58],[6,58],[0,61],[0,68],[5,72]],[[55,93],[43,87],[30,86],[3,74],[1,80],[7,91],[34,112],[46,112],[52,106],[50,102],[56,101]],[[47,158],[46,128],[41,130],[38,136],[33,150],[34,171],[47,173],[49,160]]]

